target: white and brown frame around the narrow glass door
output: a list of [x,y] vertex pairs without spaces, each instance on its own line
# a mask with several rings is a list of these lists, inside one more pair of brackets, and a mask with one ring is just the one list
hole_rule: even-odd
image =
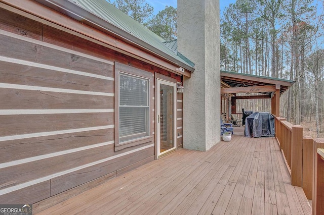
[[[160,109],[160,98],[159,98],[159,84],[166,84],[174,87],[174,110],[173,110],[173,144],[174,147],[166,150],[163,153],[160,153],[159,142],[160,142],[160,130],[159,130],[159,122],[158,115]],[[155,159],[163,157],[173,151],[177,150],[177,80],[168,76],[164,76],[158,73],[155,73]]]

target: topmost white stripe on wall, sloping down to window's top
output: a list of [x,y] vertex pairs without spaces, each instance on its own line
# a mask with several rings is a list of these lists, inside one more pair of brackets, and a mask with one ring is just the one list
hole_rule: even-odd
[[18,34],[8,32],[8,31],[0,30],[0,34],[8,35],[10,37],[14,37],[16,39],[20,39],[20,40],[23,40],[23,41],[26,41],[26,42],[36,43],[36,44],[43,45],[43,46],[46,46],[46,47],[49,47],[49,48],[54,48],[56,50],[65,51],[65,52],[68,52],[68,53],[72,53],[74,55],[82,56],[82,57],[89,58],[89,59],[92,59],[92,60],[95,60],[95,61],[100,61],[100,62],[103,62],[105,64],[114,65],[113,62],[107,61],[107,60],[102,59],[102,58],[97,58],[97,57],[87,55],[87,54],[79,52],[79,51],[74,51],[74,50],[71,50],[71,49],[68,49],[68,48],[63,48],[63,47],[58,46],[58,45],[53,45],[53,44],[50,44],[50,43],[47,43],[47,42],[39,41],[39,40],[36,40],[36,39],[31,39],[29,37],[23,37],[23,36],[20,36]]

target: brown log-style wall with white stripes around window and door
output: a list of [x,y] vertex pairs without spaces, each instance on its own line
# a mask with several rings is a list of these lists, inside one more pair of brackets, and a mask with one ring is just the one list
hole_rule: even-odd
[[[74,195],[86,189],[83,184],[93,187],[154,159],[152,142],[114,151],[113,62],[181,81],[179,75],[1,8],[0,13],[0,202],[51,197],[49,205],[55,204],[61,200],[57,194]],[[177,114],[182,117],[182,111]],[[152,114],[152,139],[154,127]]]

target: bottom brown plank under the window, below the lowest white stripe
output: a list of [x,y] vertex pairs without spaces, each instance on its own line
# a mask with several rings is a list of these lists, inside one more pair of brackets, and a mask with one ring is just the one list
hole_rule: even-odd
[[107,162],[91,166],[89,168],[53,178],[51,179],[51,194],[58,194],[113,171],[126,168],[129,166],[129,164],[136,164],[137,162],[140,162],[148,157],[152,157],[153,155],[154,149],[153,147],[150,147],[141,151],[127,154],[125,156],[108,160]]

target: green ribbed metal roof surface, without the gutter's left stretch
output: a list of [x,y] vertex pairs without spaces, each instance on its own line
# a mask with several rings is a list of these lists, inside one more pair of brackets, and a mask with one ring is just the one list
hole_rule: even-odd
[[[157,48],[158,50],[166,53],[169,57],[176,59],[183,64],[192,68],[192,62],[184,60],[177,55],[172,49],[168,48],[163,42],[165,40],[125,13],[119,11],[113,5],[105,0],[68,0],[69,2],[87,10],[88,12],[96,15],[100,19],[116,26],[117,28],[131,34],[143,42]],[[169,59],[169,58],[168,58]],[[169,59],[171,60],[171,59]],[[188,63],[188,61],[190,63]]]

